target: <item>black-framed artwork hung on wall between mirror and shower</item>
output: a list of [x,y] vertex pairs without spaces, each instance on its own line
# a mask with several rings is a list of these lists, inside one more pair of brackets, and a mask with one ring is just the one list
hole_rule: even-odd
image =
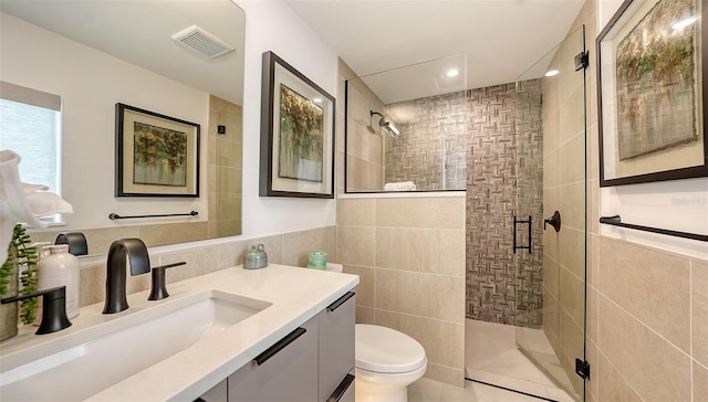
[[261,197],[334,198],[334,97],[263,53]]

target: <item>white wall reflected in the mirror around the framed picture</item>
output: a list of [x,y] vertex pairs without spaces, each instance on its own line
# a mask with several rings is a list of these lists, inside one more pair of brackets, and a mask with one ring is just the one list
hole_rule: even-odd
[[200,124],[200,188],[201,194],[207,193],[207,93],[6,13],[0,13],[0,80],[62,97],[62,195],[75,212],[63,216],[69,228],[135,224],[111,221],[111,212],[196,210],[199,220],[207,219],[206,197],[169,201],[114,197],[116,103]]

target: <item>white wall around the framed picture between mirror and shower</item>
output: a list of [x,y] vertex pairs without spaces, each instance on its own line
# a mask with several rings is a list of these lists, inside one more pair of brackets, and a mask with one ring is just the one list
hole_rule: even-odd
[[258,192],[263,52],[274,52],[336,97],[337,102],[343,102],[336,94],[336,54],[288,4],[258,0],[235,2],[246,11],[243,236],[256,237],[334,225],[334,200],[261,198]]

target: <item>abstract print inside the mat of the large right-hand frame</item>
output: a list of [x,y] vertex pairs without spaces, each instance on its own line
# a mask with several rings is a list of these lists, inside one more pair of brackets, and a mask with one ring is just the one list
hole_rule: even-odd
[[695,13],[693,0],[657,2],[620,41],[616,102],[620,160],[698,139],[695,24],[670,27]]

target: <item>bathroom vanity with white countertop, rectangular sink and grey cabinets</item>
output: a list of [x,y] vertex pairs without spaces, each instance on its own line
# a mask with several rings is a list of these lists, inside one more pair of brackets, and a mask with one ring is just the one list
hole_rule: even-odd
[[163,300],[128,295],[118,314],[86,306],[65,330],[24,327],[0,343],[0,396],[346,401],[357,284],[326,271],[239,266],[168,284]]

